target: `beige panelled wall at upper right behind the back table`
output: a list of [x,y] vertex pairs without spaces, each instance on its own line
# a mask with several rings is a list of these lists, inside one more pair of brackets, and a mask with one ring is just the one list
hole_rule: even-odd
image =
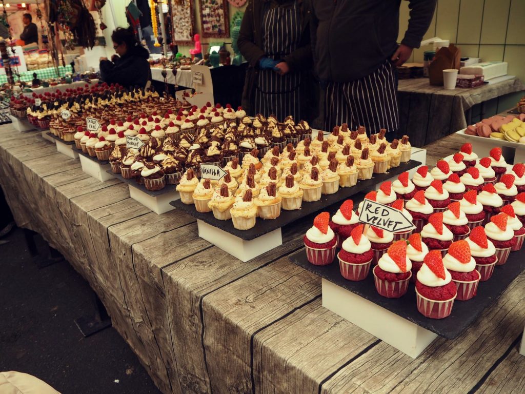
[[[400,35],[408,26],[408,2],[400,12]],[[525,0],[437,0],[434,18],[424,39],[449,39],[461,49],[461,56],[481,57],[482,61],[504,60],[509,75],[525,82]],[[412,61],[423,61],[423,51],[415,49]],[[489,103],[501,112],[516,105],[523,92],[501,97]]]

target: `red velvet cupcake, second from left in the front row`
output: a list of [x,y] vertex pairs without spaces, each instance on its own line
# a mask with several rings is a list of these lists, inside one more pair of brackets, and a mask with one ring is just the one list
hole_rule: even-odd
[[363,234],[362,224],[354,227],[350,236],[344,240],[337,257],[343,278],[357,282],[366,278],[370,271],[373,252],[372,244]]

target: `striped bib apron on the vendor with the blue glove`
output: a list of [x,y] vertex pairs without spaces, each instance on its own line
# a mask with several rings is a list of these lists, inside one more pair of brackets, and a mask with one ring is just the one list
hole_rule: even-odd
[[[262,18],[262,50],[266,56],[281,60],[297,49],[301,40],[301,18],[297,2],[293,6],[267,9]],[[255,83],[254,110],[264,116],[274,114],[281,120],[300,116],[300,72],[279,75],[260,70]]]

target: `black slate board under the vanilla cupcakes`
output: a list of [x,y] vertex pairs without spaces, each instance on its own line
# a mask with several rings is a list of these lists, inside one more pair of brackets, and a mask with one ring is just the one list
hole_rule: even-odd
[[[315,201],[315,202],[303,202],[302,208],[300,210],[295,211],[283,211],[281,210],[281,214],[277,219],[273,220],[262,220],[257,219],[257,224],[255,227],[249,230],[237,230],[233,226],[233,223],[231,220],[217,220],[213,216],[212,212],[208,213],[200,213],[195,210],[195,206],[192,205],[186,205],[180,200],[172,201],[170,204],[173,205],[175,208],[180,209],[181,211],[184,211],[185,213],[192,215],[196,219],[200,219],[203,222],[207,224],[211,224],[212,226],[217,227],[220,230],[224,230],[230,234],[233,234],[240,239],[243,239],[245,241],[253,240],[261,235],[265,235],[271,231],[277,230],[280,227],[286,226],[287,224],[290,224],[298,219],[301,219],[304,216],[307,216],[311,213],[321,211],[328,206],[335,204],[339,201],[346,200],[353,196],[356,193],[359,193],[363,190],[371,190],[375,188],[376,184],[379,184],[387,179],[390,179],[392,177],[395,177],[398,174],[401,174],[402,172],[411,170],[418,165],[421,165],[420,162],[411,160],[407,163],[401,163],[399,167],[392,168],[390,171],[388,171],[385,174],[374,174],[372,179],[367,179],[364,181],[358,181],[358,183],[355,186],[352,186],[351,188],[342,188],[339,189],[339,191],[335,194],[329,194],[325,195],[323,194],[321,196],[321,200]],[[306,230],[305,230],[306,231]]]

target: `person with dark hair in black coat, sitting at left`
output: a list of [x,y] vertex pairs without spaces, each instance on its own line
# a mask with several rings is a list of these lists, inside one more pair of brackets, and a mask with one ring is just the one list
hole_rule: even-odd
[[138,42],[131,27],[117,27],[111,39],[117,55],[113,55],[111,61],[106,57],[100,58],[102,81],[128,88],[144,88],[151,80],[148,50]]

